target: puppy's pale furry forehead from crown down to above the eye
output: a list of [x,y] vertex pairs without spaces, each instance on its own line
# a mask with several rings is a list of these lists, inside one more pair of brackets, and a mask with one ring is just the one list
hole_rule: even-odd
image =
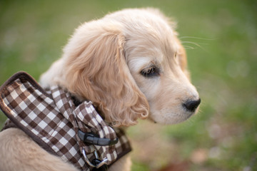
[[117,21],[125,36],[124,51],[131,68],[163,63],[178,51],[176,32],[161,14],[148,10],[124,10],[107,15]]

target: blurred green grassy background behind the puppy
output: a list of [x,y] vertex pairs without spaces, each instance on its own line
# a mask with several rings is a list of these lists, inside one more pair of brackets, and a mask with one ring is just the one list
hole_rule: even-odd
[[84,21],[146,6],[178,22],[202,103],[185,123],[129,128],[133,170],[257,170],[255,0],[1,0],[0,85],[17,71],[38,79]]

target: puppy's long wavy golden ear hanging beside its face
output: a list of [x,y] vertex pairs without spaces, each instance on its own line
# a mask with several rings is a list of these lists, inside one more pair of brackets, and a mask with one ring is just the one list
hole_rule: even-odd
[[114,126],[146,118],[149,106],[124,57],[119,25],[91,21],[79,27],[64,48],[66,88],[89,99]]

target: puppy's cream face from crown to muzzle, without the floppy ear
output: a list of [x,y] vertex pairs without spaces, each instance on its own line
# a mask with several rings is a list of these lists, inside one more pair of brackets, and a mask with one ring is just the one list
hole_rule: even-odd
[[127,15],[135,17],[131,21],[119,19],[119,12],[111,17],[126,24],[126,62],[148,100],[149,118],[156,123],[180,123],[193,115],[200,103],[189,81],[186,53],[165,16],[155,10],[145,13],[128,11]]

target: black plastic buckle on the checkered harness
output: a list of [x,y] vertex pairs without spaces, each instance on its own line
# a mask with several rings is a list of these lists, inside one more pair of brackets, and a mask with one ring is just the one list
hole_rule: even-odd
[[79,130],[79,138],[83,140],[85,143],[93,144],[93,145],[100,145],[100,146],[106,146],[106,145],[115,145],[119,139],[116,138],[115,140],[111,140],[109,138],[99,138],[99,135],[96,135],[94,133],[84,133],[81,130]]

